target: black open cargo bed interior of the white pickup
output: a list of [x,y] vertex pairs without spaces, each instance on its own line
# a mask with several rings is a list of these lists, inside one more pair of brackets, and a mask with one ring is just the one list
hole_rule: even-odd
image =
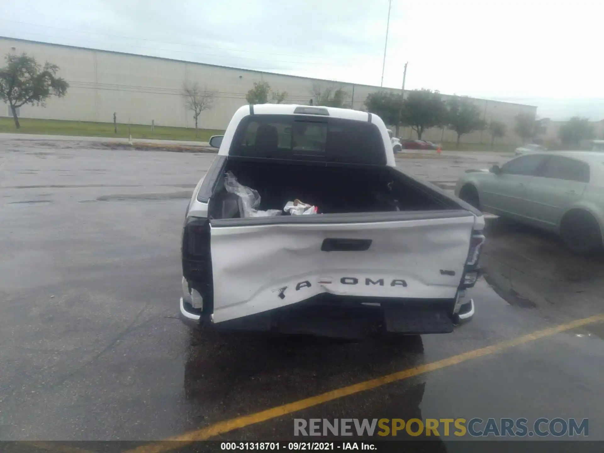
[[[318,207],[322,214],[460,208],[393,167],[228,159],[222,178],[229,171],[240,184],[259,192],[259,210],[281,210],[295,199]],[[236,202],[237,196],[228,193],[219,181],[211,198],[211,218],[241,217]]]

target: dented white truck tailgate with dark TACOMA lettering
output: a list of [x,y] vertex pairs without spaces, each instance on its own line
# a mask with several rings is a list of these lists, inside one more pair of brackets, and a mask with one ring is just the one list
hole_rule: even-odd
[[[373,223],[211,225],[213,321],[321,293],[453,299],[474,222],[472,215],[453,215]],[[322,251],[326,239],[340,240],[344,247],[345,240],[370,245],[365,250]]]

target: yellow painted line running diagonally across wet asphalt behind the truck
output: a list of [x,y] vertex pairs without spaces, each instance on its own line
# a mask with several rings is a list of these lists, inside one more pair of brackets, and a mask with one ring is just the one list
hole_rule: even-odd
[[245,428],[245,426],[255,425],[256,423],[266,422],[266,420],[275,419],[287,414],[291,414],[303,409],[307,409],[316,405],[320,405],[344,396],[353,395],[362,391],[371,390],[372,388],[381,387],[391,382],[401,381],[408,377],[418,376],[419,374],[429,373],[430,371],[440,370],[441,368],[451,367],[461,362],[471,359],[477,359],[486,355],[491,355],[496,352],[501,352],[530,341],[535,341],[546,336],[551,336],[556,333],[564,332],[565,330],[574,329],[575,327],[593,324],[599,321],[604,321],[604,314],[590,316],[581,320],[572,321],[567,324],[561,324],[556,327],[538,330],[527,335],[519,336],[507,341],[502,341],[484,348],[475,349],[464,352],[462,354],[432,362],[419,367],[408,368],[407,370],[397,371],[397,373],[387,374],[386,376],[370,379],[369,381],[359,382],[358,384],[349,385],[348,387],[338,388],[336,390],[321,393],[310,398],[301,399],[293,403],[287,403],[265,411],[260,411],[255,414],[249,414],[236,419],[225,420],[223,422],[214,423],[214,425],[206,426],[205,428],[196,429],[194,431],[185,432],[185,434],[170,437],[161,442],[149,443],[140,447],[131,449],[127,453],[163,453],[176,448],[181,448],[184,444],[195,442],[197,440],[207,440],[219,434],[233,431],[234,429]]

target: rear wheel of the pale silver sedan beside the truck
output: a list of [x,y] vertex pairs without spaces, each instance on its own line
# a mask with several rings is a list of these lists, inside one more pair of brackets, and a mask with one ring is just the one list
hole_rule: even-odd
[[587,211],[566,214],[560,225],[560,236],[567,247],[578,254],[590,254],[602,247],[600,225]]

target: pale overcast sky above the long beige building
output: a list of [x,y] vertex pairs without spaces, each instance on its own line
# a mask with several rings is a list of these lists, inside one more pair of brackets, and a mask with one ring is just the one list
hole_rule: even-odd
[[[0,0],[0,36],[380,85],[388,0]],[[602,0],[392,0],[384,86],[604,119]]]

